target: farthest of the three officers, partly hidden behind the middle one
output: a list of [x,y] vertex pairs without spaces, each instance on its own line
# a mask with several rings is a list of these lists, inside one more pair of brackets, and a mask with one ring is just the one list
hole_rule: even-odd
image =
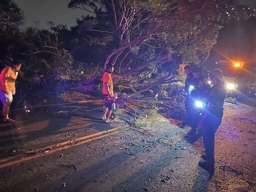
[[189,86],[191,85],[192,78],[194,77],[194,75],[191,71],[190,65],[184,66],[184,72],[186,74],[185,87],[184,87],[186,98],[184,100],[184,104],[185,104],[185,110],[186,110],[186,114],[187,114],[186,123],[189,124],[190,120],[192,119],[192,111],[191,111],[190,91],[188,91],[188,90],[189,90]]

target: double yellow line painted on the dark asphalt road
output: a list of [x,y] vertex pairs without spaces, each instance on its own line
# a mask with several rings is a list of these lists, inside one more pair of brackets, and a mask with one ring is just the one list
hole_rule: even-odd
[[54,145],[50,145],[44,148],[40,148],[40,149],[36,149],[36,150],[32,150],[26,153],[22,153],[22,154],[17,154],[14,156],[10,156],[10,157],[6,157],[6,158],[2,158],[0,159],[0,168],[4,168],[7,166],[12,166],[15,164],[19,164],[21,162],[27,161],[27,160],[31,160],[40,156],[44,156],[53,152],[57,152],[63,149],[67,149],[70,148],[72,146],[77,146],[79,144],[83,144],[86,142],[90,142],[92,140],[97,140],[99,138],[103,138],[105,136],[109,136],[124,130],[129,129],[129,126],[120,126],[120,127],[116,127],[116,128],[112,128],[109,130],[105,130],[105,131],[101,131],[101,132],[97,132],[94,134],[90,134],[87,136],[83,136],[83,137],[79,137],[76,139],[72,139],[72,140],[68,140],[68,141],[64,141],[64,142],[60,142]]

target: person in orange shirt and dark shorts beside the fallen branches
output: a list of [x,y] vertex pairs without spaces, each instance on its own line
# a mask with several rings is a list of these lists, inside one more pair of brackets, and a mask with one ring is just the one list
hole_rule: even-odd
[[115,103],[114,100],[117,98],[117,96],[113,93],[113,81],[112,77],[119,77],[119,78],[128,78],[127,76],[123,76],[120,74],[113,73],[114,67],[112,64],[108,63],[106,64],[105,71],[103,73],[103,96],[104,96],[104,103],[105,108],[103,111],[102,120],[105,120],[105,122],[110,122],[110,115],[112,111],[115,109]]

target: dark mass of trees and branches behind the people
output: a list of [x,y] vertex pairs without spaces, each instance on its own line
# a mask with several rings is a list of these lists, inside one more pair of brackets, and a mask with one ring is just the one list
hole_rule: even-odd
[[[19,78],[26,88],[52,90],[61,81],[100,78],[110,62],[115,72],[132,77],[130,82],[115,79],[132,96],[138,96],[136,90],[142,87],[169,97],[176,92],[170,83],[183,80],[176,76],[178,64],[205,67],[217,39],[215,52],[230,55],[225,47],[236,47],[236,52],[247,51],[247,59],[254,59],[253,41],[248,39],[254,30],[245,28],[255,18],[241,21],[254,17],[254,10],[236,0],[70,0],[68,7],[94,16],[82,16],[70,29],[48,21],[48,30],[34,26],[20,30],[22,10],[12,0],[1,0],[1,68],[13,59],[22,60]],[[237,30],[231,31],[237,25],[247,35],[241,32],[244,40],[239,44],[231,40],[237,39]]]

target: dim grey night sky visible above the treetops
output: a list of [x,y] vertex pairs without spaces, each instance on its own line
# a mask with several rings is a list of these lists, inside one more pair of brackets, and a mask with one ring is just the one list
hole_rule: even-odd
[[[86,15],[86,11],[81,9],[67,8],[70,0],[13,0],[24,12],[24,26],[34,26],[39,21],[39,28],[48,29],[47,21],[56,24],[76,25],[76,18]],[[256,0],[238,0],[240,3],[256,7]]]

